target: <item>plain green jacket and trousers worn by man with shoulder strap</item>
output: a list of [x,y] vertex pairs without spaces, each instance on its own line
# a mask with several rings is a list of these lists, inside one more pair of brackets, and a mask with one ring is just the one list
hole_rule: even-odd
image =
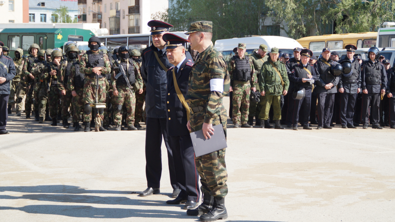
[[[272,48],[273,49],[276,48]],[[274,53],[278,53],[277,51],[273,51]],[[276,69],[280,72],[282,81],[284,81],[284,87],[282,86],[280,75],[273,68],[274,65]],[[272,62],[271,58],[268,61],[263,63],[260,71],[259,79],[259,87],[261,90],[265,90],[265,96],[262,96],[263,103],[261,103],[261,111],[259,114],[259,119],[267,120],[269,119],[269,110],[270,106],[273,104],[273,120],[281,119],[281,107],[280,107],[280,99],[282,92],[284,90],[288,91],[288,87],[290,85],[290,81],[288,80],[287,69],[284,62],[277,60],[276,62]]]

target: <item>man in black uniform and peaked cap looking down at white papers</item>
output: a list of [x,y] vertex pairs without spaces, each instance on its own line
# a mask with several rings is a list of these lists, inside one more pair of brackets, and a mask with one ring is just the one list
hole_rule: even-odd
[[[294,51],[295,52],[295,51]],[[311,130],[311,127],[308,126],[308,120],[310,117],[310,103],[311,103],[311,89],[312,84],[305,79],[314,79],[316,81],[318,78],[316,76],[316,72],[314,71],[314,67],[308,64],[308,60],[313,55],[313,52],[310,49],[303,49],[300,51],[300,63],[295,64],[292,67],[291,74],[289,75],[290,82],[293,83],[293,92],[299,91],[302,88],[305,89],[305,97],[301,100],[295,100],[292,96],[288,97],[291,99],[293,110],[290,112],[292,115],[292,129],[298,130],[298,121],[299,121],[299,110],[303,110],[303,129]],[[295,56],[296,57],[296,56]],[[292,91],[291,91],[292,92]],[[288,103],[289,104],[289,103]],[[289,106],[288,106],[289,109]]]

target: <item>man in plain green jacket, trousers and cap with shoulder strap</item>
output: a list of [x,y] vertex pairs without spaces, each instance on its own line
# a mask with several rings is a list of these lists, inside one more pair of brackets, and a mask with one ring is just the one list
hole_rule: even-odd
[[288,80],[287,68],[284,62],[277,60],[278,48],[271,48],[270,58],[263,63],[259,77],[259,87],[261,88],[261,96],[264,103],[259,114],[261,119],[261,128],[271,128],[267,119],[269,119],[269,110],[273,105],[273,120],[275,121],[275,129],[285,128],[281,126],[281,95],[286,95],[290,81]]

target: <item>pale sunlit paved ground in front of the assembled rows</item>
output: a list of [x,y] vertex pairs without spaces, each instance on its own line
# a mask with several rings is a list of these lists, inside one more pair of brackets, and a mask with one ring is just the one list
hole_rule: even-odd
[[[165,203],[172,188],[163,144],[161,193],[138,196],[147,188],[144,130],[84,133],[8,120],[1,222],[198,221]],[[228,126],[227,221],[395,220],[395,130]]]

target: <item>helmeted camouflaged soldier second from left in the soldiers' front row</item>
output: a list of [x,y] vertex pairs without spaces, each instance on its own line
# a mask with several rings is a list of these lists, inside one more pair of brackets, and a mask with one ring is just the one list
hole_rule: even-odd
[[24,64],[22,68],[22,75],[23,75],[24,84],[26,85],[26,94],[27,94],[25,99],[26,119],[30,119],[30,113],[32,111],[34,83],[38,79],[37,77],[34,77],[34,75],[30,72],[32,71],[33,68],[32,64],[36,62],[40,62],[38,60],[39,50],[40,50],[40,46],[37,45],[36,43],[30,45],[30,48],[28,49],[30,55],[24,60]]

